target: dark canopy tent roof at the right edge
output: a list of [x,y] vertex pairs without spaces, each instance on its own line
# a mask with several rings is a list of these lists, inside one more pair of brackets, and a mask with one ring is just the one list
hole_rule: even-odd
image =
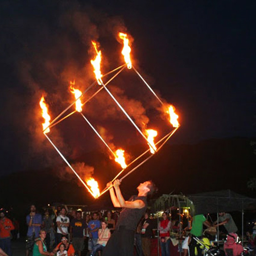
[[196,214],[243,211],[256,208],[256,199],[240,195],[230,189],[188,195]]

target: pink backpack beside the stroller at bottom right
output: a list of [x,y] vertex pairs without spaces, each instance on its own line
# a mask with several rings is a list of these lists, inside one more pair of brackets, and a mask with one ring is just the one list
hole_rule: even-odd
[[229,233],[226,236],[224,251],[228,256],[238,256],[242,254],[243,246],[241,245],[240,239],[236,233]]

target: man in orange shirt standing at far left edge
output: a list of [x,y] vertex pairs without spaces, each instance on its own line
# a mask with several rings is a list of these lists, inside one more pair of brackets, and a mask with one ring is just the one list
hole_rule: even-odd
[[11,230],[14,230],[14,225],[9,218],[5,217],[5,213],[0,213],[0,247],[5,253],[11,256]]

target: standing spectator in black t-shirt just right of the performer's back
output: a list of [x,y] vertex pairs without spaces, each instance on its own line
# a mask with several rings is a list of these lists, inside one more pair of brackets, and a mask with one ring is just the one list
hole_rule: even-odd
[[142,251],[144,256],[150,256],[150,239],[152,237],[152,224],[146,212],[142,222],[141,238],[142,238]]

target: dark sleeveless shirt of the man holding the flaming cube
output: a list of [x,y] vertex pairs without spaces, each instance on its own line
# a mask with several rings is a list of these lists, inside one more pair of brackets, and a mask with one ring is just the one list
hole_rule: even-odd
[[120,226],[125,226],[126,229],[135,230],[141,217],[147,209],[147,197],[146,196],[131,196],[128,201],[142,200],[145,206],[141,209],[123,208],[117,221],[116,229]]

